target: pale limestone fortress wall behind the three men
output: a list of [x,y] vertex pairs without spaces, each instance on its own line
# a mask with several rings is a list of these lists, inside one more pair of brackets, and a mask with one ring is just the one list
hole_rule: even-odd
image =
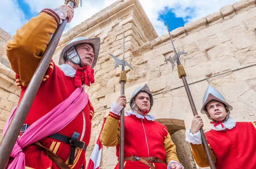
[[[187,81],[199,114],[204,91],[208,85],[213,85],[233,106],[231,116],[235,121],[256,121],[255,3],[255,0],[241,0],[171,32],[176,50],[187,53],[181,55],[180,61],[186,69]],[[165,124],[172,134],[177,154],[185,168],[199,168],[195,165],[189,144],[184,141],[184,130],[190,127],[193,118],[186,91],[177,76],[177,66],[172,70],[172,65],[165,62],[165,59],[174,56],[169,34],[157,36],[138,0],[119,0],[72,28],[62,36],[53,56],[55,63],[58,63],[61,49],[74,37],[101,39],[100,54],[94,67],[95,83],[86,88],[96,111],[87,161],[98,138],[103,118],[110,110],[111,101],[115,101],[120,93],[120,68],[114,69],[115,63],[109,53],[121,59],[123,32],[125,59],[134,68],[125,69],[128,78],[125,95],[129,100],[138,86],[147,83],[154,95],[151,114]],[[13,76],[10,76],[13,72],[7,67],[1,69],[0,73],[5,78],[2,79],[9,78],[8,84],[14,82]],[[0,84],[6,82],[2,79]],[[2,86],[6,92],[8,85]],[[4,98],[0,95],[1,102],[3,100],[6,103],[18,89],[8,91]],[[11,105],[8,112],[14,104],[5,104]],[[128,109],[129,106],[126,107]],[[3,113],[0,114],[2,117]],[[209,120],[206,115],[202,115],[202,118],[204,130],[207,131],[211,128]],[[3,125],[0,131],[1,127]],[[111,169],[116,165],[115,152],[115,147],[103,146],[102,169]]]

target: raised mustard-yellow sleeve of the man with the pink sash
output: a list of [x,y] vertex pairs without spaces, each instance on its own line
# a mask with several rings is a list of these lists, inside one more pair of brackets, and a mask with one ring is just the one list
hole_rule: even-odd
[[29,84],[57,26],[52,16],[42,12],[18,29],[14,40],[7,43],[6,55],[23,86]]

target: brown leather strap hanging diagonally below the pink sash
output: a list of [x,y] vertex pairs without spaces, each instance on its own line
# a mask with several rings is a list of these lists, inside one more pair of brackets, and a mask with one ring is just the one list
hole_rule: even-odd
[[60,167],[61,169],[70,169],[70,167],[63,160],[61,160],[61,158],[59,158],[57,155],[55,155],[51,150],[47,149],[41,143],[35,142],[34,144],[37,145],[37,146],[42,147],[45,150],[45,153],[47,154],[47,157],[53,163],[55,163],[58,167]]

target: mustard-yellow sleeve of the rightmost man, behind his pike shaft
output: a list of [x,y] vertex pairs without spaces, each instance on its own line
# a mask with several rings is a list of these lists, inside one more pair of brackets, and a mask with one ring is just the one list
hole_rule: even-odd
[[[198,166],[200,166],[200,167],[209,166],[208,159],[207,159],[206,153],[204,151],[203,144],[190,143],[190,145],[192,148],[192,155],[195,158],[195,162],[198,164]],[[208,144],[208,146],[209,146],[210,152],[212,154],[213,161],[214,161],[214,163],[216,163],[217,158],[214,155],[214,152],[212,151],[212,147],[209,144]]]

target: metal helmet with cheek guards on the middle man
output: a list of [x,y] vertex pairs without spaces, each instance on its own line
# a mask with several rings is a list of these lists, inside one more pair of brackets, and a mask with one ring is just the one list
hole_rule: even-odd
[[131,96],[131,100],[130,100],[130,107],[131,107],[131,110],[133,111],[134,109],[135,110],[139,110],[139,107],[136,105],[135,103],[135,98],[136,96],[140,93],[140,92],[145,92],[145,93],[148,93],[148,96],[149,96],[149,99],[150,99],[150,108],[149,108],[149,111],[151,110],[152,106],[153,106],[153,96],[149,90],[149,87],[147,84],[145,84],[143,87],[138,87],[134,93],[132,94]]

